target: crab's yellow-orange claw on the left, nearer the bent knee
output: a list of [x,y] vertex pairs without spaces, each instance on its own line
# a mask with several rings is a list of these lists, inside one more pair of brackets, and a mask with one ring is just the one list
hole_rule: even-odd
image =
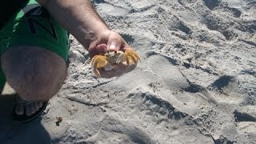
[[98,68],[102,68],[107,65],[106,57],[103,55],[95,55],[90,64],[94,69],[94,74],[101,77]]

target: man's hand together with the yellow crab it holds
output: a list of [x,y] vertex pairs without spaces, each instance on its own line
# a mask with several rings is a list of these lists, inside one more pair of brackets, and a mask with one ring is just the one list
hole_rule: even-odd
[[90,42],[89,54],[94,74],[111,78],[134,70],[140,57],[120,34],[105,30]]

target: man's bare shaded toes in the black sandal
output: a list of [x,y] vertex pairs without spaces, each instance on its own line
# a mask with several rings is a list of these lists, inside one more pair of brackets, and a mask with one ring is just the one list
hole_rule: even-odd
[[15,104],[15,113],[17,115],[26,113],[27,116],[30,116],[37,112],[43,105],[43,102],[26,102],[22,98],[18,98],[18,101]]

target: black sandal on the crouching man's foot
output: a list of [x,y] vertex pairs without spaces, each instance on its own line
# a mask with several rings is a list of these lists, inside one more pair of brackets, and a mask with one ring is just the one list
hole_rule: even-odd
[[[22,98],[16,96],[14,99],[14,103],[20,103],[22,104],[23,107],[25,107],[26,105],[30,104],[31,102],[27,102],[25,100],[23,100]],[[42,107],[36,111],[34,114],[31,114],[30,116],[26,115],[26,110],[24,110],[24,114],[22,115],[18,115],[15,112],[16,106],[14,106],[14,110],[13,110],[13,121],[14,122],[18,122],[18,123],[22,123],[22,122],[30,122],[36,118],[38,118],[40,115],[42,115],[42,112],[44,110],[46,110],[46,106],[48,105],[48,102],[43,102]]]

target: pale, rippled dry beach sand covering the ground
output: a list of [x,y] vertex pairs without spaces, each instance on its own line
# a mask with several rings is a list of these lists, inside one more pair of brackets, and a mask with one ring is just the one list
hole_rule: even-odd
[[1,143],[256,143],[255,0],[92,2],[142,62],[96,78],[70,38],[69,77],[41,122],[11,123],[2,101]]

